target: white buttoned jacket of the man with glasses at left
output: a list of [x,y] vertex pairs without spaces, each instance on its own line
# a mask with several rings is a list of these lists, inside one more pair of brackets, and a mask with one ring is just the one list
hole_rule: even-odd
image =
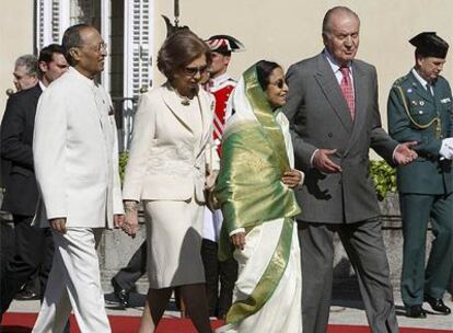
[[74,68],[39,99],[33,156],[42,226],[66,217],[67,227],[112,228],[114,214],[124,213],[111,99]]

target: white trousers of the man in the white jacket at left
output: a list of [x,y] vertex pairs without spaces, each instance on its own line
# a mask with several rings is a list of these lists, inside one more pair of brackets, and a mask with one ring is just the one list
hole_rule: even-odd
[[102,229],[54,231],[55,254],[43,306],[32,333],[61,333],[74,311],[81,333],[111,333],[96,245]]

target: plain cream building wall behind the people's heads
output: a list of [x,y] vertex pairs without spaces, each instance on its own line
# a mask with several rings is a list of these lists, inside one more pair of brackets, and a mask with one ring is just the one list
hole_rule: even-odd
[[[173,1],[155,0],[155,14],[173,18]],[[453,84],[453,1],[451,0],[179,0],[182,24],[200,37],[231,34],[245,44],[234,54],[230,72],[239,77],[259,59],[289,65],[323,48],[322,20],[334,5],[347,5],[361,19],[358,58],[378,68],[380,104],[386,126],[386,99],[395,79],[414,65],[414,47],[407,42],[422,31],[435,31],[452,45],[443,74]],[[164,38],[164,22],[156,18],[156,45]],[[161,79],[162,80],[162,79]]]

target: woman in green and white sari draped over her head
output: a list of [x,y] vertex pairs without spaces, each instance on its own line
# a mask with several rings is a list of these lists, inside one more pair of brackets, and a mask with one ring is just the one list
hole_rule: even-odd
[[239,262],[234,302],[217,332],[302,332],[300,250],[288,85],[276,62],[258,61],[233,93],[217,197],[223,213],[220,259]]

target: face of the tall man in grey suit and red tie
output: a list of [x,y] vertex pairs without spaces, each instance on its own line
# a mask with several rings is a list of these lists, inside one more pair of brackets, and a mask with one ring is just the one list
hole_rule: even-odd
[[324,45],[340,66],[347,66],[359,48],[359,20],[347,12],[335,12],[328,23],[328,31],[323,34]]

